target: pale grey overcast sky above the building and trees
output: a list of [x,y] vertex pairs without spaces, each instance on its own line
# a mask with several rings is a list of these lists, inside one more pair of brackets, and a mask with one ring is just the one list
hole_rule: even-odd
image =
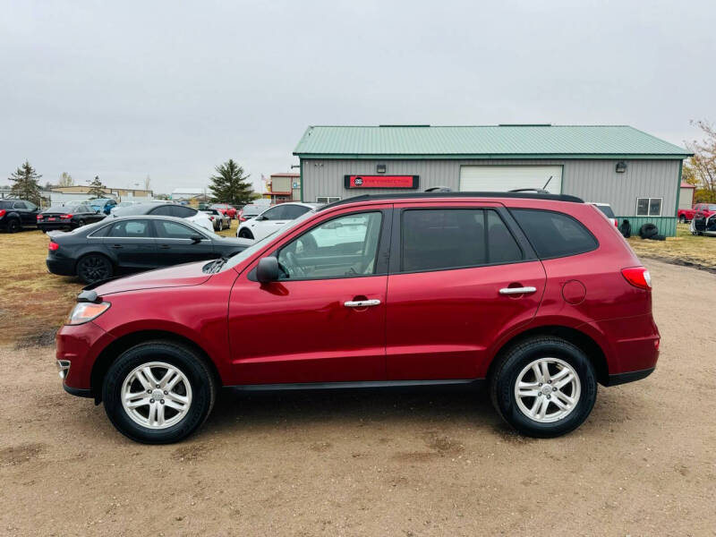
[[311,124],[716,122],[716,4],[0,0],[0,184],[286,172]]

